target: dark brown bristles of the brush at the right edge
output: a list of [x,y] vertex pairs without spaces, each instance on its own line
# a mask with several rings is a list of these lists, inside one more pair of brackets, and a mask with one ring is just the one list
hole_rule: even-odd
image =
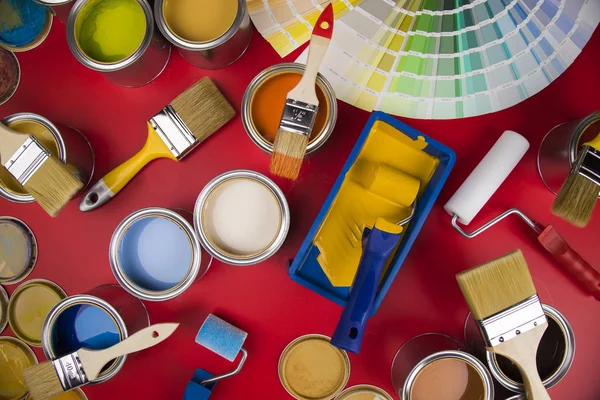
[[552,214],[583,228],[592,218],[600,186],[586,177],[571,172],[552,204]]

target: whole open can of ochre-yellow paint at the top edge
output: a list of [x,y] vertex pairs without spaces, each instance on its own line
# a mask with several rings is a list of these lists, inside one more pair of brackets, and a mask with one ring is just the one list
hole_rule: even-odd
[[[202,69],[219,69],[232,64],[244,54],[252,36],[252,23],[246,0],[218,2],[205,0],[200,3],[208,6],[211,2],[211,7],[214,7],[213,21],[222,23],[199,23],[186,18],[186,14],[194,18],[204,15],[203,20],[211,18],[211,13],[207,10],[200,13],[196,11],[201,7],[198,3],[186,0],[155,0],[154,2],[154,15],[158,29],[177,47],[179,54],[187,62]],[[233,13],[234,7],[237,8],[235,13]],[[207,25],[212,29],[197,31],[197,28]]]

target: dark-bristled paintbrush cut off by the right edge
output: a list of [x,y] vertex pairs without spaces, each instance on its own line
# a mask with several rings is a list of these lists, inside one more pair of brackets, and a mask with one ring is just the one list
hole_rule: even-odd
[[584,144],[552,204],[552,213],[583,228],[592,218],[600,194],[600,134]]

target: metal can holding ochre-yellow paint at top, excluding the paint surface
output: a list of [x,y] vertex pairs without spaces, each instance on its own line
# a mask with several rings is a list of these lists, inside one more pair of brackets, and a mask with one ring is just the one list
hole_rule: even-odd
[[202,69],[219,69],[239,59],[252,37],[252,23],[246,0],[238,0],[238,10],[231,27],[220,37],[208,42],[191,42],[178,36],[169,27],[164,13],[165,0],[155,0],[154,15],[162,34],[179,50],[190,64]]

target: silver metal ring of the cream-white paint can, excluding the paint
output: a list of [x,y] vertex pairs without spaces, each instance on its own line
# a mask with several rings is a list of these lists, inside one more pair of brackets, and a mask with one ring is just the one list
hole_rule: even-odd
[[[268,244],[260,250],[244,254],[236,253],[220,245],[215,240],[217,235],[210,232],[210,224],[207,224],[207,218],[210,217],[207,206],[213,200],[216,200],[212,198],[213,194],[218,193],[218,190],[237,180],[256,183],[261,188],[266,189],[266,192],[273,199],[270,204],[277,208],[276,212],[279,217],[279,224],[273,232],[272,238],[268,238]],[[269,198],[271,199],[271,197]],[[285,242],[290,228],[290,209],[285,195],[275,182],[255,171],[234,170],[217,176],[202,189],[194,207],[194,228],[198,233],[202,246],[217,260],[238,266],[254,265],[271,257]]]

